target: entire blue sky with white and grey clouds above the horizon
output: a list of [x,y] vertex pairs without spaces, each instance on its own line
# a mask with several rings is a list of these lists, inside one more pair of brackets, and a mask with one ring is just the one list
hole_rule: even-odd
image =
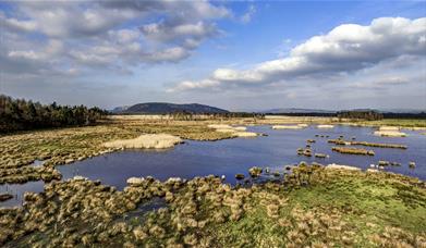
[[0,94],[426,109],[426,1],[0,1]]

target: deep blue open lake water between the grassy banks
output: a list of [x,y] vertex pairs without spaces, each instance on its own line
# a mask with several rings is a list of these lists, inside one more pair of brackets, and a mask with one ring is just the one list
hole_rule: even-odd
[[[331,129],[318,129],[311,126],[305,129],[280,131],[271,129],[270,126],[253,126],[248,127],[248,131],[264,133],[268,136],[219,141],[186,140],[185,144],[178,145],[173,149],[120,151],[57,169],[63,175],[63,179],[82,175],[90,179],[100,179],[102,184],[112,185],[119,189],[126,186],[125,182],[129,177],[148,175],[160,181],[175,176],[192,178],[210,174],[224,175],[226,182],[234,184],[235,174],[242,173],[247,176],[247,171],[252,166],[268,166],[272,172],[275,170],[282,172],[284,165],[296,164],[301,161],[368,169],[370,164],[377,164],[379,160],[387,160],[399,162],[401,166],[388,166],[386,171],[426,179],[426,136],[419,135],[418,132],[404,131],[407,137],[389,138],[374,136],[374,128],[344,125],[338,125]],[[329,135],[329,138],[315,137],[316,134]],[[332,152],[331,147],[334,145],[328,144],[327,139],[338,138],[340,135],[343,135],[345,140],[356,137],[358,141],[402,144],[409,149],[367,147],[366,149],[373,149],[376,152],[374,157]],[[311,145],[313,153],[326,153],[330,158],[297,156],[296,149],[304,148],[306,139],[316,140]],[[409,168],[410,161],[416,162],[415,169]],[[0,206],[4,203],[0,202]]]

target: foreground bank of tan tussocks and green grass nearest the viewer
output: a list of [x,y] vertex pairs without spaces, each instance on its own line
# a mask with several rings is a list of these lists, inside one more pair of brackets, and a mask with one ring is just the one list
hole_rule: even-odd
[[[301,170],[297,172],[297,170]],[[22,209],[1,210],[5,247],[424,247],[426,188],[417,179],[296,169],[288,183],[247,188],[219,178],[49,184]],[[166,204],[132,214],[141,202]],[[127,215],[127,216],[126,216]]]

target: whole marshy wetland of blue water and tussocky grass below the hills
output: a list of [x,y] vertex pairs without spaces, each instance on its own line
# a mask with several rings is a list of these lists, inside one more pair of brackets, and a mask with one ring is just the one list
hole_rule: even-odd
[[[3,136],[37,145],[12,146],[21,151],[21,163],[11,163],[17,151],[2,158],[8,163],[0,189],[12,199],[0,202],[0,241],[5,247],[425,245],[421,132],[380,137],[370,126],[318,128],[321,120],[272,128],[277,122],[233,120],[211,128],[204,122],[118,121]],[[224,125],[232,132],[218,132]],[[238,136],[236,129],[257,135]],[[102,146],[142,134],[170,134],[183,142],[167,149]],[[62,146],[66,141],[78,149]],[[59,152],[50,154],[49,146]],[[375,154],[339,153],[333,147]],[[301,148],[315,156],[297,154]],[[397,214],[401,210],[404,214]]]

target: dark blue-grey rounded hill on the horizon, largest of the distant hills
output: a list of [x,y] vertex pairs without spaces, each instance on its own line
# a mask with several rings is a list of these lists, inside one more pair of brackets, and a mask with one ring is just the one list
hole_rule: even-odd
[[135,114],[167,114],[175,112],[187,112],[193,114],[200,113],[229,113],[228,110],[204,106],[198,103],[174,104],[168,102],[146,102],[131,107],[118,107],[113,109],[113,113],[135,113]]

